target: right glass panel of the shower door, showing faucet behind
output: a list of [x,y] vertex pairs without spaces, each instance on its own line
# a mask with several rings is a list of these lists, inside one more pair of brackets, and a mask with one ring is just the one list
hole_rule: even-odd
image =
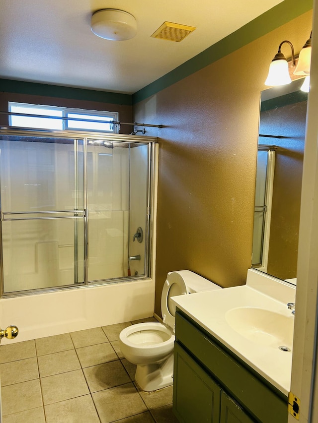
[[[87,141],[89,282],[146,274],[149,149],[137,142]],[[133,241],[138,227],[142,242]]]

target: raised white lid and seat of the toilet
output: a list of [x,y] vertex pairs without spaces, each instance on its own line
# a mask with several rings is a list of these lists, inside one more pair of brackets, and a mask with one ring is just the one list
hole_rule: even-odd
[[174,330],[175,304],[171,297],[188,294],[188,288],[182,276],[177,272],[169,272],[164,282],[161,294],[161,313],[163,323],[166,323]]

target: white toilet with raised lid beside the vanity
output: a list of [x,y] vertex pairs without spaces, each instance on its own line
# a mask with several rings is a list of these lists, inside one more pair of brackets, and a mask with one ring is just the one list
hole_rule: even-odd
[[173,383],[175,305],[171,297],[217,289],[221,287],[190,270],[169,272],[161,294],[163,323],[139,323],[121,331],[121,352],[137,365],[135,380],[143,391],[155,391]]

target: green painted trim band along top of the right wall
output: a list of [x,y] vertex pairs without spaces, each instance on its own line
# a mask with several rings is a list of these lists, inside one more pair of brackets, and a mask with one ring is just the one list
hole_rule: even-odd
[[[233,53],[246,44],[311,10],[313,0],[284,0],[237,31],[184,62],[171,72],[133,94],[133,104],[150,97],[203,67]],[[305,40],[306,41],[306,40]]]

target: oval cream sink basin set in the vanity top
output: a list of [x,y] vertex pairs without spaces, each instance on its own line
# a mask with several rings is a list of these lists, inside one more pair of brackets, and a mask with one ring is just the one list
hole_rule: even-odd
[[294,316],[285,316],[257,307],[232,308],[225,314],[227,323],[244,338],[259,345],[292,349]]

